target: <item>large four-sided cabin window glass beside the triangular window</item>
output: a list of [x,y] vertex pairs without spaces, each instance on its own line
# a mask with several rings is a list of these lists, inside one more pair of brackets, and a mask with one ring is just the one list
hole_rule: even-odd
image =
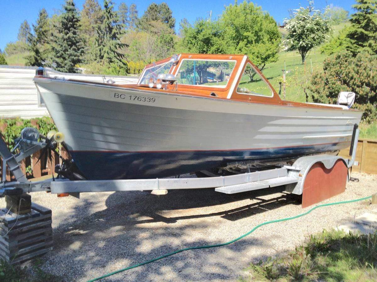
[[236,61],[183,59],[176,75],[185,85],[227,86]]

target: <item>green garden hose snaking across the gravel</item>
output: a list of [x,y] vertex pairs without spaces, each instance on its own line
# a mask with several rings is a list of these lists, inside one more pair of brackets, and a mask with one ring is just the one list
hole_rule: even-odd
[[275,222],[281,222],[281,221],[287,221],[287,220],[291,220],[291,219],[295,219],[295,218],[299,218],[299,217],[302,217],[304,215],[307,215],[309,214],[310,212],[314,211],[315,209],[317,208],[321,208],[321,207],[324,207],[324,206],[333,206],[333,205],[340,205],[340,204],[347,204],[347,203],[353,203],[353,202],[359,202],[359,201],[363,201],[363,200],[367,200],[367,199],[370,199],[372,196],[369,196],[369,197],[364,197],[364,198],[360,198],[360,199],[356,199],[356,200],[349,200],[349,201],[342,201],[342,202],[335,202],[335,203],[328,203],[328,204],[321,204],[321,205],[318,205],[318,206],[315,206],[313,208],[311,208],[310,210],[308,210],[307,212],[304,212],[302,214],[299,214],[299,215],[295,215],[293,217],[286,217],[286,218],[282,218],[282,219],[276,219],[276,220],[270,220],[270,221],[265,221],[261,224],[258,224],[257,226],[255,226],[253,229],[251,229],[249,232],[245,233],[244,235],[241,235],[240,237],[236,238],[236,239],[233,239],[229,242],[226,242],[226,243],[221,243],[221,244],[215,244],[215,245],[207,245],[207,246],[195,246],[195,247],[188,247],[188,248],[184,248],[184,249],[180,249],[180,250],[176,250],[174,252],[171,252],[171,253],[167,253],[165,255],[162,255],[162,256],[159,256],[157,258],[154,258],[154,259],[150,259],[149,261],[144,261],[144,262],[141,262],[139,264],[135,264],[135,265],[131,265],[129,267],[126,267],[126,268],[122,268],[120,270],[116,270],[116,271],[113,271],[111,273],[108,273],[108,274],[105,274],[103,276],[100,276],[100,277],[97,277],[97,278],[94,278],[92,280],[89,280],[88,282],[92,282],[92,281],[97,281],[97,280],[100,280],[102,278],[105,278],[105,277],[109,277],[111,275],[114,275],[116,273],[120,273],[122,271],[126,271],[126,270],[129,270],[131,268],[136,268],[136,267],[139,267],[141,265],[146,265],[146,264],[149,264],[151,262],[154,262],[154,261],[158,261],[159,259],[162,259],[162,258],[166,258],[168,256],[172,256],[172,255],[175,255],[176,253],[181,253],[183,251],[187,251],[187,250],[195,250],[195,249],[207,249],[207,248],[214,248],[214,247],[221,247],[221,246],[226,246],[226,245],[229,245],[231,243],[234,243],[238,240],[241,240],[242,238],[250,235],[251,233],[253,233],[256,229],[258,229],[259,227],[261,226],[264,226],[264,225],[267,225],[267,224],[270,224],[270,223],[275,223]]

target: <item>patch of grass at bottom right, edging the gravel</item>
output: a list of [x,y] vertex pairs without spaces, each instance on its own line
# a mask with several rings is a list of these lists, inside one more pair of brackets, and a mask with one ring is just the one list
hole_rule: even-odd
[[377,232],[324,230],[288,255],[251,264],[246,271],[242,281],[376,281]]

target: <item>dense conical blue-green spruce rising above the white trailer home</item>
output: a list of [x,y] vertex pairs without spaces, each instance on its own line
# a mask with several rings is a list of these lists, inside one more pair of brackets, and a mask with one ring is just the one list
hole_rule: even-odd
[[58,35],[54,36],[52,50],[56,70],[64,73],[75,73],[75,65],[82,62],[84,46],[81,36],[78,34],[80,18],[73,0],[66,0],[63,6],[63,14],[56,27]]

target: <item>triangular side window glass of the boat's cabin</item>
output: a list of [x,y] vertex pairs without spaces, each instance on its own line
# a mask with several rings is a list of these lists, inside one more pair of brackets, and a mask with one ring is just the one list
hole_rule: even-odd
[[237,87],[237,93],[258,96],[273,96],[272,89],[267,82],[255,71],[254,67],[247,64]]

